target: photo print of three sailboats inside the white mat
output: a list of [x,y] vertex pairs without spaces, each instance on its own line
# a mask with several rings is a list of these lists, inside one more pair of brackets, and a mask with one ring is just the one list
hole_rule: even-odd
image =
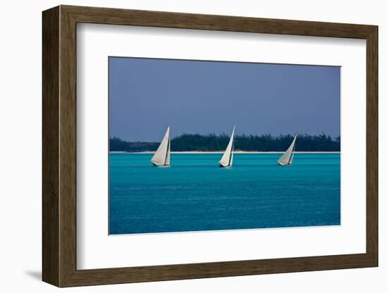
[[109,57],[109,235],[341,225],[341,68]]

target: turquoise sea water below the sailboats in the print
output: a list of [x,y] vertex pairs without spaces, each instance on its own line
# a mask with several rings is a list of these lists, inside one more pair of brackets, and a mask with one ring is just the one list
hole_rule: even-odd
[[340,154],[109,154],[109,234],[340,224]]

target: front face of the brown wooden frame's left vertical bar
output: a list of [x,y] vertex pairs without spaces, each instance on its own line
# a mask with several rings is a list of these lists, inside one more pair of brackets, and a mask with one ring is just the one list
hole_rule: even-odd
[[59,89],[59,234],[60,241],[60,286],[68,283],[76,268],[76,23],[71,15],[60,8],[60,89]]

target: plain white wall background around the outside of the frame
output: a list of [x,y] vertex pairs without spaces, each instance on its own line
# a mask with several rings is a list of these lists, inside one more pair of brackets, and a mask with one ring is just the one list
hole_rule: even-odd
[[[380,267],[61,289],[62,292],[386,292],[383,174],[388,156],[384,101],[385,1],[85,0],[4,1],[0,12],[0,289],[55,292],[41,278],[41,11],[59,4],[379,25],[380,37]],[[384,142],[384,139],[386,140]],[[385,169],[385,170],[384,170]],[[385,238],[385,239],[384,239]]]

